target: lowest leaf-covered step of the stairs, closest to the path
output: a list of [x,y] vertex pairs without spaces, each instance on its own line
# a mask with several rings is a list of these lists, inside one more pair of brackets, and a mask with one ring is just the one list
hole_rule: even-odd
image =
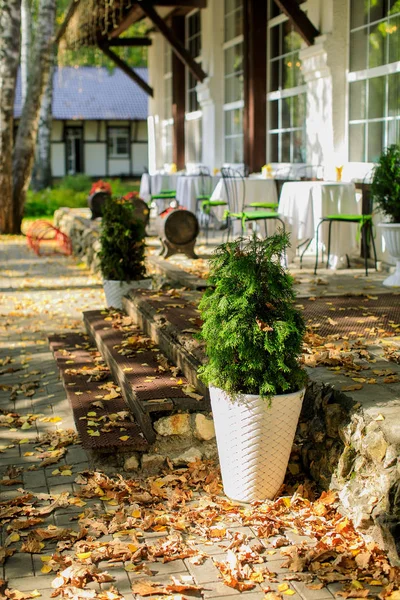
[[[83,447],[90,450],[146,451],[148,442],[141,428],[115,390],[111,374],[99,362],[99,353],[92,347],[88,336],[83,333],[52,335],[49,343]],[[112,389],[115,391],[112,392]],[[108,400],[108,395],[116,397]]]

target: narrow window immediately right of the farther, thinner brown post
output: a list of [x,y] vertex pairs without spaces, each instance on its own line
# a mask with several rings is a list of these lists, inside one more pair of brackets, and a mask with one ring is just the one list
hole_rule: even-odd
[[[186,48],[195,61],[201,64],[201,11],[186,17]],[[197,80],[186,69],[185,151],[186,162],[200,163],[202,159],[202,113],[197,100]]]

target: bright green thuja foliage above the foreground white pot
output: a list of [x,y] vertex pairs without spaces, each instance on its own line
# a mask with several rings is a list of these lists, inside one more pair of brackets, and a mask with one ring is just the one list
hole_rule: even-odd
[[305,324],[294,308],[293,279],[281,266],[286,234],[222,244],[200,311],[208,364],[201,379],[233,396],[295,392],[306,374],[298,363]]

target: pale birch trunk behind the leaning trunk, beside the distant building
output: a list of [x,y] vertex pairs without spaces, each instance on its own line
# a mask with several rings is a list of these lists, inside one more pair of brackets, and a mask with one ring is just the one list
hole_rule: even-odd
[[36,142],[35,164],[32,173],[31,187],[44,190],[51,186],[51,124],[53,102],[54,65],[50,68],[49,80],[42,98],[39,115],[39,130]]

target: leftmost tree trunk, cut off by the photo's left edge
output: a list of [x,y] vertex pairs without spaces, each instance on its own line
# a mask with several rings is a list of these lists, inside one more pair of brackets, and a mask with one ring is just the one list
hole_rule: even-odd
[[21,0],[0,0],[0,232],[15,233],[12,194],[14,98]]

